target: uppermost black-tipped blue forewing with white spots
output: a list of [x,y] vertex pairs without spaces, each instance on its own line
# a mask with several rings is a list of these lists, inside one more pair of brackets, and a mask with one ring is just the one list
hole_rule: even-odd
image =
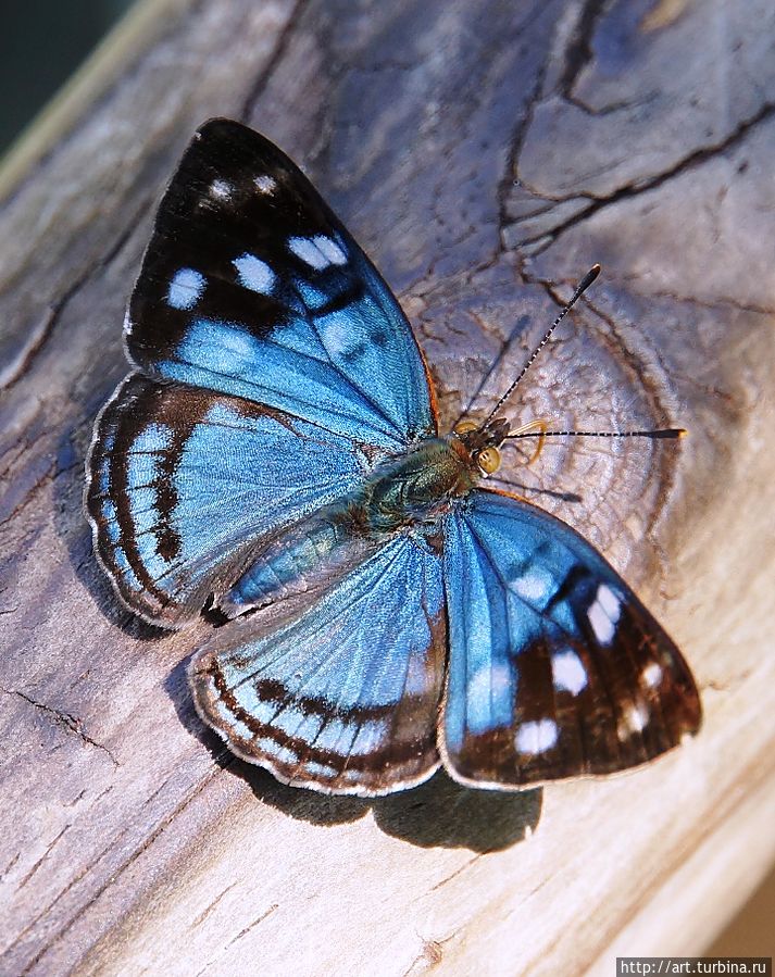
[[149,377],[238,396],[385,451],[436,429],[378,273],[263,136],[205,123],[161,202],[126,343]]

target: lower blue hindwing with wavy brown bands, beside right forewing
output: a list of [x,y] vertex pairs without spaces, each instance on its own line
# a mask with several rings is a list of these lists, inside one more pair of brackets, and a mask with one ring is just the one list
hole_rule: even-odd
[[446,619],[441,560],[399,536],[299,616],[222,628],[195,657],[202,718],[278,779],[374,796],[438,766]]

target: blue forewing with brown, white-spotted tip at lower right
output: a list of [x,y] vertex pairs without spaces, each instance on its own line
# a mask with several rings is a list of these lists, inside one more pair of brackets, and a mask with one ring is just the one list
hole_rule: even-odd
[[474,491],[445,537],[440,749],[503,789],[645,763],[700,725],[673,641],[602,556],[528,503]]

